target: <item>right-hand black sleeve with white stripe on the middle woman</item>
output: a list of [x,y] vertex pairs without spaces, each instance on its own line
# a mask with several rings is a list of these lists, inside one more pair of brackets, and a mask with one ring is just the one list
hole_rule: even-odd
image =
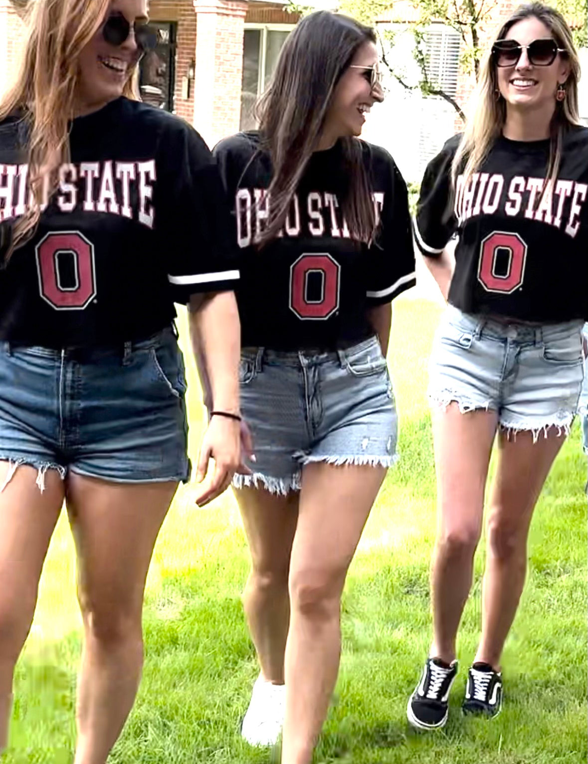
[[385,163],[374,168],[375,174],[383,173],[386,183],[375,193],[376,209],[380,209],[380,229],[370,247],[370,273],[367,283],[368,306],[391,303],[404,290],[415,286],[415,251],[409,213],[409,193],[404,178],[393,158],[386,153]]

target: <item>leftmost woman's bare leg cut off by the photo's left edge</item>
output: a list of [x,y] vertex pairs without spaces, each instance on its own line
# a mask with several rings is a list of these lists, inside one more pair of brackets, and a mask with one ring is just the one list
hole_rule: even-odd
[[[0,462],[0,485],[11,467]],[[12,678],[37,604],[39,579],[63,504],[63,481],[55,470],[44,475],[22,465],[0,492],[0,752],[8,743]]]

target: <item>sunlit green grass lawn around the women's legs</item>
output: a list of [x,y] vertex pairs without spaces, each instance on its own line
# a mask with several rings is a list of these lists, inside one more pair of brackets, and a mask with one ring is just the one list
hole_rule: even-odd
[[[402,460],[389,473],[352,565],[343,601],[343,659],[317,762],[580,764],[586,762],[586,461],[577,427],[548,478],[531,529],[528,584],[503,660],[504,711],[460,717],[464,673],[480,628],[480,575],[460,630],[462,671],[441,733],[418,735],[405,704],[431,633],[428,566],[435,480],[425,401],[437,306],[396,303],[389,360]],[[191,370],[192,374],[192,370]],[[192,455],[202,409],[191,381]],[[179,491],[147,582],[147,659],[137,704],[111,755],[118,764],[255,764],[270,753],[238,735],[257,673],[241,611],[247,549],[229,494],[199,510]],[[18,664],[11,764],[66,764],[73,753],[80,623],[73,545],[60,521],[34,628]]]

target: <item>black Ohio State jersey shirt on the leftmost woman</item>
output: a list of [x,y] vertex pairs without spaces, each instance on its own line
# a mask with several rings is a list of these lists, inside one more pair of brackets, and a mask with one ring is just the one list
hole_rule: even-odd
[[[24,121],[0,125],[0,225],[24,213],[26,144]],[[74,119],[69,145],[34,237],[0,268],[0,339],[119,344],[169,325],[192,293],[234,288],[225,192],[186,122],[121,97]]]

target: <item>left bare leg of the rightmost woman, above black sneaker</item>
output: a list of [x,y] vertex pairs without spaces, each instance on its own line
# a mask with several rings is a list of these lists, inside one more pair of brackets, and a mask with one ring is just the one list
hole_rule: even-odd
[[438,524],[431,566],[431,656],[451,663],[472,584],[480,540],[484,488],[496,433],[493,411],[460,413],[457,403],[432,413],[438,486]]

